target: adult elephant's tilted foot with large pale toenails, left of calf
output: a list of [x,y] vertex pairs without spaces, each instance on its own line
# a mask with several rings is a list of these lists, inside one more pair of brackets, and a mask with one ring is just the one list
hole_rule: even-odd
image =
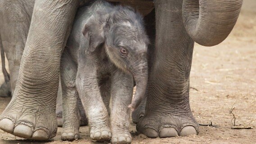
[[13,98],[0,117],[0,129],[25,139],[47,140],[57,132],[55,108]]

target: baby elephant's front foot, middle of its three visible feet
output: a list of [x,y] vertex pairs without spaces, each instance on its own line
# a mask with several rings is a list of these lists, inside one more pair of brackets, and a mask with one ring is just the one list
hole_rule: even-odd
[[97,141],[106,141],[111,138],[111,130],[109,127],[91,128],[90,137]]

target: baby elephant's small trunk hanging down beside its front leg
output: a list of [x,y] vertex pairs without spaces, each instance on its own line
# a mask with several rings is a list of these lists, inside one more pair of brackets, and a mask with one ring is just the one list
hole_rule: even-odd
[[134,80],[136,82],[136,92],[133,97],[132,103],[128,106],[133,111],[141,103],[142,99],[145,97],[147,77],[148,77],[148,67],[147,62],[144,60],[137,64],[135,67],[131,68]]

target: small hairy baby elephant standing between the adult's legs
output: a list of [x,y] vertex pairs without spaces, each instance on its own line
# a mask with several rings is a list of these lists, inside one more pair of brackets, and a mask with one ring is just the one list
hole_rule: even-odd
[[63,140],[79,138],[79,95],[91,139],[131,143],[129,108],[135,109],[146,91],[148,43],[142,16],[130,7],[97,0],[78,10],[61,59]]

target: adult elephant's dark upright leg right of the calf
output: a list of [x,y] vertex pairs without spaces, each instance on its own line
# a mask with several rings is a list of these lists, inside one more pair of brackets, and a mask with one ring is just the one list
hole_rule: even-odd
[[194,41],[182,19],[181,0],[156,0],[156,39],[145,116],[137,130],[161,138],[198,133],[189,105],[189,74]]

